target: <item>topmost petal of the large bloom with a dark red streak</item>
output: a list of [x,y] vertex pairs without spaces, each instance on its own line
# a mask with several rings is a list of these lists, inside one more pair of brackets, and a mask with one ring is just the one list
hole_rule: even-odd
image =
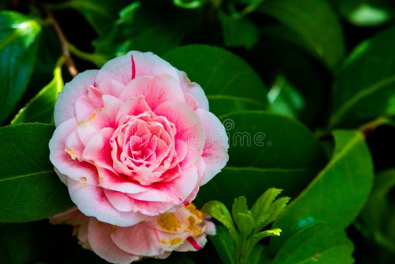
[[137,76],[155,76],[168,74],[177,78],[177,72],[167,61],[159,58],[152,52],[129,51],[126,55],[108,61],[99,70],[96,83],[100,84],[106,79],[118,81],[127,85]]

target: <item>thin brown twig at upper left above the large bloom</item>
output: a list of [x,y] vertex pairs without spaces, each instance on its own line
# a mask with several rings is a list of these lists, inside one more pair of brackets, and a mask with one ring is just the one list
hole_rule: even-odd
[[56,21],[55,17],[53,16],[52,10],[45,5],[43,5],[43,8],[53,28],[55,29],[56,35],[58,36],[59,42],[62,46],[62,54],[66,59],[67,69],[69,70],[70,75],[75,77],[78,74],[78,71],[76,68],[76,64],[74,63],[72,57],[70,56],[69,41],[66,39],[66,36],[63,33],[62,29],[60,28],[58,21]]

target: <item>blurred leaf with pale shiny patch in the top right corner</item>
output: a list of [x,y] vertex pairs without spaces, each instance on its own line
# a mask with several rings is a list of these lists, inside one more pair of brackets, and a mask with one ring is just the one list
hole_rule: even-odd
[[340,13],[356,26],[379,26],[394,17],[391,0],[332,0]]

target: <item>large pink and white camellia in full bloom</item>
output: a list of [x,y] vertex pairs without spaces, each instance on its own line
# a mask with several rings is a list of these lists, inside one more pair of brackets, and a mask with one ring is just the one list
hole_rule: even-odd
[[50,160],[86,216],[130,226],[195,199],[228,161],[202,88],[151,52],[130,51],[66,84]]

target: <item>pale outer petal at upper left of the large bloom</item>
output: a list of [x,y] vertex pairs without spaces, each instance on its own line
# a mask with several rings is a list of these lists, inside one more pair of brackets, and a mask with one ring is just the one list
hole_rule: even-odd
[[94,84],[97,73],[98,70],[81,72],[71,82],[65,84],[55,103],[54,122],[56,127],[76,117],[74,110],[76,101],[80,96],[87,94],[87,87]]

